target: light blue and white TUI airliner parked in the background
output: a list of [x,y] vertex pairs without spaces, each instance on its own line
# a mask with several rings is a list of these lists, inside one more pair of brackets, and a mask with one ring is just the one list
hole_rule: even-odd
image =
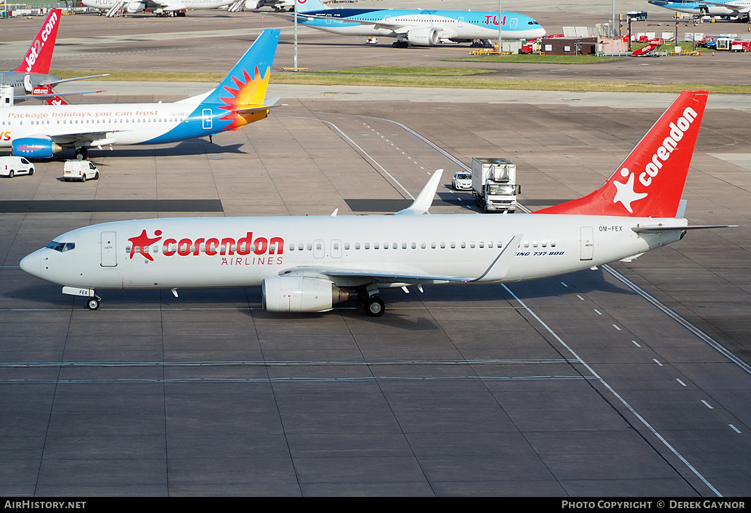
[[[441,41],[472,43],[498,39],[498,11],[329,9],[318,0],[297,0],[297,13],[297,23],[324,32],[397,38],[391,45],[395,48],[406,48],[410,44],[432,46]],[[275,16],[294,21],[291,14]],[[532,18],[503,13],[503,39],[536,39],[544,35],[545,29]]]

